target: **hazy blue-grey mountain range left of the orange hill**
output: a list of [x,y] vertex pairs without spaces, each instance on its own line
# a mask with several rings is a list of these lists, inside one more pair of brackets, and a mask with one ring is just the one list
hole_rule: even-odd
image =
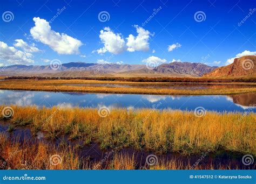
[[69,62],[51,68],[50,65],[11,65],[0,67],[2,75],[30,75],[30,76],[180,76],[199,77],[211,72],[217,67],[210,67],[202,63],[172,62],[162,64],[156,68],[148,68],[146,65],[118,65],[116,63],[85,63]]

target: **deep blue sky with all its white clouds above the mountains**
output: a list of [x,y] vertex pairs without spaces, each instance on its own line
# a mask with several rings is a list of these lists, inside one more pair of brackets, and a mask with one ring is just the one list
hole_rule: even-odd
[[224,66],[256,55],[255,8],[255,1],[239,0],[2,1],[0,65],[58,59]]

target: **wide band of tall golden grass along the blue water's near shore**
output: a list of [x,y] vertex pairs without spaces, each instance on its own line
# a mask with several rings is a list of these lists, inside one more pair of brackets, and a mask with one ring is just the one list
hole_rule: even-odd
[[[103,118],[98,109],[11,107],[14,115],[9,121],[15,126],[29,125],[48,137],[66,134],[85,143],[95,140],[102,148],[131,146],[184,154],[226,150],[256,155],[254,113],[242,117],[241,113],[206,112],[196,117],[179,110],[111,109]],[[1,114],[0,119],[6,118]]]

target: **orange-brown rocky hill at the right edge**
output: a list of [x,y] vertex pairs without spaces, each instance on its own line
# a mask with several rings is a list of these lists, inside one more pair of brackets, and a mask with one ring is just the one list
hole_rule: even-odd
[[214,69],[206,77],[256,76],[256,55],[235,58],[230,65]]

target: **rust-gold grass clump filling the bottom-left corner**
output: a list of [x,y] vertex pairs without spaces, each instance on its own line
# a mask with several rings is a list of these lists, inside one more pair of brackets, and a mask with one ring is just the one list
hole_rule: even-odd
[[[79,161],[75,150],[70,147],[59,148],[55,145],[39,142],[32,144],[29,140],[11,142],[8,137],[0,133],[1,157],[5,163],[0,167],[4,169],[78,169]],[[50,157],[58,154],[62,161],[52,165]]]

